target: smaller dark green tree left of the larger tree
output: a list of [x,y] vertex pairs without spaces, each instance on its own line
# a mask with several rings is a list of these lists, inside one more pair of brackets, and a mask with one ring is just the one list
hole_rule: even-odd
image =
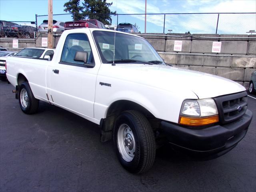
[[80,0],[70,0],[64,4],[64,7],[66,7],[64,9],[65,12],[75,14],[75,18],[74,15],[72,15],[72,18],[75,19],[75,21],[85,18],[85,16],[81,14],[81,12],[83,11],[83,6],[80,6]]

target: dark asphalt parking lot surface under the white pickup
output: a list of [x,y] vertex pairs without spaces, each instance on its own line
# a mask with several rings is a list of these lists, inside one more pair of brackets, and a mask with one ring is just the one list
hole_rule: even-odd
[[[141,175],[122,168],[112,142],[75,114],[40,102],[26,115],[0,81],[0,191],[256,191],[256,99],[245,138],[224,156],[192,161],[164,146],[154,166]],[[255,97],[255,96],[254,96]]]

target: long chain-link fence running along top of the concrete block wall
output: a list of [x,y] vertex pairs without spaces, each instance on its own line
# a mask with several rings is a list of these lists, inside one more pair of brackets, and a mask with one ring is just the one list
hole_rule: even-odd
[[[80,19],[106,18],[106,14],[54,14],[58,21],[54,31],[63,31],[64,22]],[[145,22],[146,18],[146,22]],[[0,37],[34,38],[48,15],[36,15],[36,21],[0,22]],[[254,34],[256,13],[175,13],[175,14],[113,14],[108,20],[112,26],[130,23],[139,32],[190,34]],[[47,26],[44,27],[47,32]]]

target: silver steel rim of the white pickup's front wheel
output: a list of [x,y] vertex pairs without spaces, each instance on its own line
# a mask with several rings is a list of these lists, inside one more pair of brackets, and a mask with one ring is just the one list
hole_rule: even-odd
[[135,155],[135,139],[132,130],[127,124],[120,125],[117,132],[118,150],[122,158],[131,162]]

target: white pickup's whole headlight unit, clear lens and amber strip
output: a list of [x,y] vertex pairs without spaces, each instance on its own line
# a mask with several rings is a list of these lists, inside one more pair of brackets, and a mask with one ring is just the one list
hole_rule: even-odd
[[218,110],[212,98],[185,100],[182,104],[179,123],[203,126],[219,121]]

